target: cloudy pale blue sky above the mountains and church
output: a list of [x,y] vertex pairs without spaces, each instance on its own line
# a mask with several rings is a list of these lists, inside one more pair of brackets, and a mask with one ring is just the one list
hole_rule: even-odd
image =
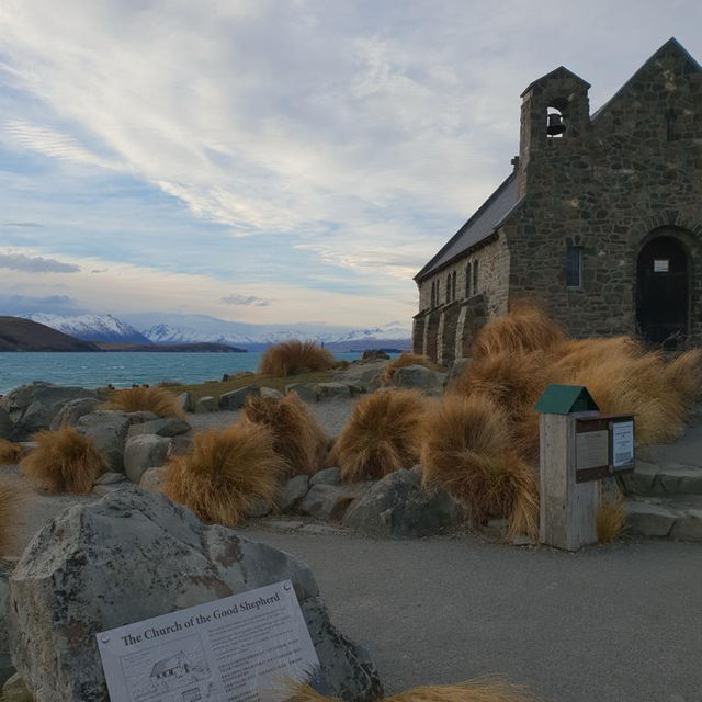
[[592,110],[702,3],[2,0],[0,313],[365,326],[509,173],[519,94]]

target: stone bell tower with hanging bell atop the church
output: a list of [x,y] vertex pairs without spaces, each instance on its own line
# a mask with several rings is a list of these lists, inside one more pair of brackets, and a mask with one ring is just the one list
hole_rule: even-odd
[[530,190],[534,170],[582,149],[590,132],[590,83],[559,66],[521,94],[518,188]]

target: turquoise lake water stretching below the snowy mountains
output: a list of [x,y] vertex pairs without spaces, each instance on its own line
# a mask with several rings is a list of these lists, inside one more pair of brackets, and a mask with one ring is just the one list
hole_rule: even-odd
[[[250,353],[0,353],[0,394],[32,381],[59,385],[131,387],[133,383],[159,381],[202,383],[220,380],[224,373],[256,371],[259,352]],[[355,361],[360,352],[335,353]]]

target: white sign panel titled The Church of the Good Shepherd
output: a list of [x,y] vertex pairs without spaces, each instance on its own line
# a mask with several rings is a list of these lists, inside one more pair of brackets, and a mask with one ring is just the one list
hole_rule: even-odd
[[269,702],[319,668],[290,580],[97,637],[111,702]]

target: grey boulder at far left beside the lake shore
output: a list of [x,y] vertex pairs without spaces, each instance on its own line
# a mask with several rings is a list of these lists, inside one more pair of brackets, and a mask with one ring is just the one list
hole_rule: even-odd
[[97,394],[84,387],[47,383],[32,383],[12,390],[3,403],[14,421],[10,438],[26,441],[34,432],[48,429],[66,403],[84,397],[97,398]]

